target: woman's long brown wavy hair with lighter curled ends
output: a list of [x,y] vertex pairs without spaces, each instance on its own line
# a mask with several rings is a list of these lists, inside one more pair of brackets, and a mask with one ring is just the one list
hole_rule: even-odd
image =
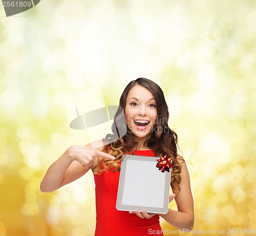
[[[148,89],[154,96],[156,101],[156,108],[157,108],[157,121],[155,123],[155,126],[152,130],[152,136],[150,139],[146,140],[144,145],[150,149],[153,150],[155,155],[157,157],[167,155],[168,157],[172,158],[173,162],[173,168],[172,168],[172,176],[170,179],[170,185],[172,186],[172,189],[174,193],[177,195],[180,191],[180,172],[181,172],[181,166],[178,162],[178,159],[181,161],[184,161],[182,156],[180,156],[177,153],[178,148],[178,136],[177,134],[171,130],[168,126],[168,119],[169,119],[169,112],[168,112],[168,106],[164,98],[163,91],[161,88],[153,82],[150,79],[146,78],[138,78],[136,80],[132,80],[124,89],[120,101],[119,106],[120,108],[125,111],[125,105],[126,105],[126,98],[129,93],[129,91],[135,86],[135,85],[141,85],[144,88]],[[120,111],[117,111],[116,122],[118,122],[118,113]],[[118,125],[115,123],[112,125],[112,131],[113,134],[116,133],[116,128]],[[120,125],[119,125],[120,126]],[[111,169],[113,171],[119,171],[120,170],[120,164],[122,160],[122,156],[124,154],[134,154],[134,147],[136,146],[136,142],[134,140],[133,133],[129,130],[129,127],[127,127],[127,132],[123,137],[119,137],[118,140],[116,140],[113,137],[116,137],[114,135],[107,135],[104,140],[108,139],[108,143],[104,147],[104,152],[113,155],[116,159],[114,161],[108,160],[108,159],[100,159],[99,165],[103,165],[103,168],[99,168],[98,174],[101,174],[102,171],[106,169]],[[113,138],[113,142],[109,142],[109,140]]]

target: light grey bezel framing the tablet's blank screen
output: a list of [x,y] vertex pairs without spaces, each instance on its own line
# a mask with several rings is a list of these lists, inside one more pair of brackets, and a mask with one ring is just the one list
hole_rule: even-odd
[[[151,157],[151,156],[136,156],[136,155],[123,155],[122,164],[120,169],[120,178],[118,184],[118,192],[117,192],[117,201],[116,201],[116,209],[122,211],[135,211],[135,209],[142,211],[145,209],[147,213],[161,213],[166,214],[169,209],[169,191],[170,191],[170,176],[171,176],[171,168],[168,171],[164,171],[162,173],[165,175],[165,183],[164,183],[164,199],[163,199],[163,207],[148,207],[148,206],[139,206],[139,205],[123,205],[122,198],[123,198],[123,186],[125,180],[125,173],[126,173],[126,160],[138,160],[138,161],[150,161],[153,164],[157,164],[157,159],[160,157]],[[143,168],[142,170],[143,171]],[[145,170],[146,171],[146,170]],[[160,170],[159,170],[160,171]]]

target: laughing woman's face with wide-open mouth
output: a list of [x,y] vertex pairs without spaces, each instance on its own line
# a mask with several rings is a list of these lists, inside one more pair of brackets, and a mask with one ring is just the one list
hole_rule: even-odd
[[146,140],[151,137],[157,120],[157,108],[155,98],[149,90],[135,85],[129,91],[126,98],[125,119],[127,126],[137,138]]

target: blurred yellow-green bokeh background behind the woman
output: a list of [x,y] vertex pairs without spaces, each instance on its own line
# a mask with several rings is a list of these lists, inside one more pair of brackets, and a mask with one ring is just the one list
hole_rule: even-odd
[[118,104],[138,77],[164,91],[194,230],[256,229],[254,0],[42,0],[11,17],[1,3],[0,15],[1,236],[94,235],[93,175],[51,194],[40,181],[69,146],[88,142],[69,128],[66,101],[100,86]]

